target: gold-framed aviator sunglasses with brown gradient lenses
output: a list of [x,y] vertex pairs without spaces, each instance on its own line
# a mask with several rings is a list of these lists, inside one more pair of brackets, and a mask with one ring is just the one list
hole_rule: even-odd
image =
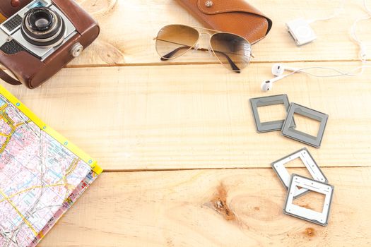
[[[210,47],[199,48],[202,34],[209,35]],[[158,32],[156,50],[162,61],[176,59],[191,49],[211,52],[220,64],[236,73],[241,73],[252,57],[251,44],[239,35],[188,25],[167,25]],[[254,56],[253,56],[254,57]]]

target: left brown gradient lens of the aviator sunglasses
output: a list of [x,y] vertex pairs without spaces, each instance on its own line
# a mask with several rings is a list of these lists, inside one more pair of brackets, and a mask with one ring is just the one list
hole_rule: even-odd
[[199,32],[185,25],[167,25],[158,32],[156,49],[161,60],[182,56],[199,40]]

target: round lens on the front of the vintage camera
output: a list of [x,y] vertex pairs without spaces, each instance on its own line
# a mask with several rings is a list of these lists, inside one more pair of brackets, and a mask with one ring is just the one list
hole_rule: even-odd
[[47,7],[31,9],[22,20],[23,37],[37,47],[55,47],[61,44],[65,30],[61,16]]

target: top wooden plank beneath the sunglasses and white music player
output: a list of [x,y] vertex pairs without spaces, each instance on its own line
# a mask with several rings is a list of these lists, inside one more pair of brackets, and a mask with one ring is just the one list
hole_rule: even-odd
[[[318,39],[296,47],[285,30],[285,23],[295,18],[326,18],[334,13],[339,0],[251,0],[273,20],[269,36],[254,44],[254,61],[349,61],[358,58],[358,47],[349,30],[354,20],[365,15],[363,0],[346,1],[343,13],[328,21],[312,23]],[[78,0],[100,23],[101,34],[80,58],[69,66],[127,66],[131,64],[166,64],[160,61],[152,40],[164,25],[182,23],[198,25],[175,0]],[[371,50],[370,20],[359,24],[358,35]],[[204,44],[204,42],[201,42]],[[208,54],[189,54],[174,63],[217,63]]]

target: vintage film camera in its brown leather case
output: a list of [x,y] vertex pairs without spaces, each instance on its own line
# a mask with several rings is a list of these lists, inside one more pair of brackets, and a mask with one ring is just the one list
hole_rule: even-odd
[[[37,88],[99,35],[98,23],[73,0],[0,0],[0,71],[7,83]],[[8,17],[9,16],[9,17]]]

